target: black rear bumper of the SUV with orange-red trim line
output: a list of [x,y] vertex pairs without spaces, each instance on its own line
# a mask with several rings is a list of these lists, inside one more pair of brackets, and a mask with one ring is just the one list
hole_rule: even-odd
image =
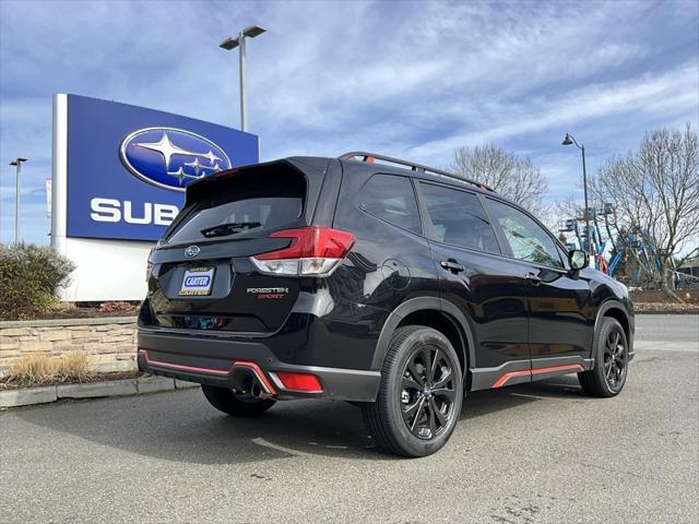
[[[381,374],[378,371],[289,365],[279,360],[261,342],[139,329],[139,369],[190,382],[230,388],[239,367],[251,370],[275,398],[334,398],[374,402]],[[322,385],[317,393],[285,389],[276,372],[315,374]]]

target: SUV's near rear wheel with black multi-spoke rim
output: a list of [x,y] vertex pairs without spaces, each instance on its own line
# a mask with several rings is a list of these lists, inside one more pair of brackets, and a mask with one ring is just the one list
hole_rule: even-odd
[[451,437],[462,401],[463,376],[449,340],[431,327],[411,325],[393,334],[377,401],[364,404],[362,413],[379,446],[426,456]]

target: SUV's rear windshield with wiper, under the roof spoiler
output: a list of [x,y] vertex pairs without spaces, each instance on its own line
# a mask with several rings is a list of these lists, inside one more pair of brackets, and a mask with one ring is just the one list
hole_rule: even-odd
[[304,213],[306,179],[297,171],[250,172],[223,179],[193,205],[168,242],[227,238],[298,221]]

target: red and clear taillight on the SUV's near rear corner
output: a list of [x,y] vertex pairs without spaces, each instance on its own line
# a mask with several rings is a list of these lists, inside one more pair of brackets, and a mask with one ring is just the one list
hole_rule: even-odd
[[354,245],[351,233],[320,226],[276,231],[270,238],[292,239],[287,248],[250,258],[260,272],[270,275],[329,275]]

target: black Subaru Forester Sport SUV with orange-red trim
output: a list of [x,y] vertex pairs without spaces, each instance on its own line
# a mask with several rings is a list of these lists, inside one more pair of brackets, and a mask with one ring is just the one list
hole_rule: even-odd
[[573,372],[621,391],[632,306],[588,260],[489,188],[395,158],[222,171],[151,253],[139,367],[235,416],[350,401],[379,445],[423,456],[470,391]]

